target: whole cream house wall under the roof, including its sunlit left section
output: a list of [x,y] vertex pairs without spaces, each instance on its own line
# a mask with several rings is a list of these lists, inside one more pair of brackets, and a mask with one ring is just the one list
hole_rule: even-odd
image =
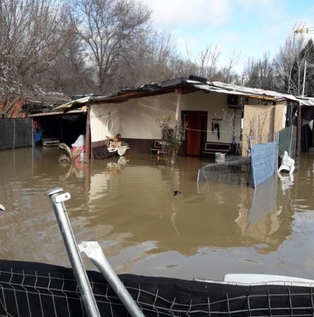
[[[239,101],[240,102],[240,101]],[[169,116],[175,118],[177,106],[176,94],[162,94],[153,97],[130,99],[121,104],[95,104],[91,106],[91,132],[92,142],[101,141],[106,136],[115,136],[118,133],[127,139],[161,139],[161,130],[157,123],[158,118]],[[234,110],[227,107],[227,95],[203,91],[191,94],[182,94],[180,103],[181,111],[207,111],[207,141],[232,142],[234,126]],[[113,130],[108,132],[106,120],[108,113],[113,118]],[[217,130],[211,131],[212,119],[220,125],[220,139]],[[235,111],[235,127],[239,135],[241,128],[241,110]]]

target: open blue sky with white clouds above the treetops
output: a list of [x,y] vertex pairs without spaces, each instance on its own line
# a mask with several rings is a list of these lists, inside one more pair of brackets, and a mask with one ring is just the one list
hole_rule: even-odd
[[[274,57],[292,36],[294,25],[314,27],[314,0],[144,0],[155,30],[171,32],[187,57],[218,46],[220,66],[233,52],[241,54],[237,70],[249,57]],[[298,35],[301,36],[301,35]],[[303,35],[310,38],[310,35]],[[313,36],[313,35],[312,35]]]

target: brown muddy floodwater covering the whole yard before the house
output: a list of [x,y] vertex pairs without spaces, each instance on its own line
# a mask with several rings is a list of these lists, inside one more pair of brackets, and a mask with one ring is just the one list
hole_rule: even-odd
[[[222,279],[269,273],[314,279],[314,156],[294,180],[258,189],[200,182],[206,161],[156,156],[58,165],[58,149],[0,151],[0,256],[70,266],[47,189],[63,187],[77,242],[98,241],[118,273]],[[173,195],[174,190],[182,194]],[[84,259],[87,268],[94,266]]]

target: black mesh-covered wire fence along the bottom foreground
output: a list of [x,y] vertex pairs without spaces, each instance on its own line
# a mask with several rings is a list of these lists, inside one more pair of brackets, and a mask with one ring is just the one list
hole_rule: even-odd
[[[101,316],[130,316],[103,276],[88,272]],[[144,316],[314,316],[313,285],[228,285],[120,275]],[[0,316],[87,316],[73,271],[0,261]]]

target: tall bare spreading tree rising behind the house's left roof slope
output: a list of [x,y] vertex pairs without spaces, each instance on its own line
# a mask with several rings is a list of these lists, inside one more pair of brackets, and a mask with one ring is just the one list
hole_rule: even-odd
[[132,43],[149,18],[146,6],[134,0],[75,1],[76,31],[97,69],[99,93],[112,89],[110,82],[121,59],[131,53]]

